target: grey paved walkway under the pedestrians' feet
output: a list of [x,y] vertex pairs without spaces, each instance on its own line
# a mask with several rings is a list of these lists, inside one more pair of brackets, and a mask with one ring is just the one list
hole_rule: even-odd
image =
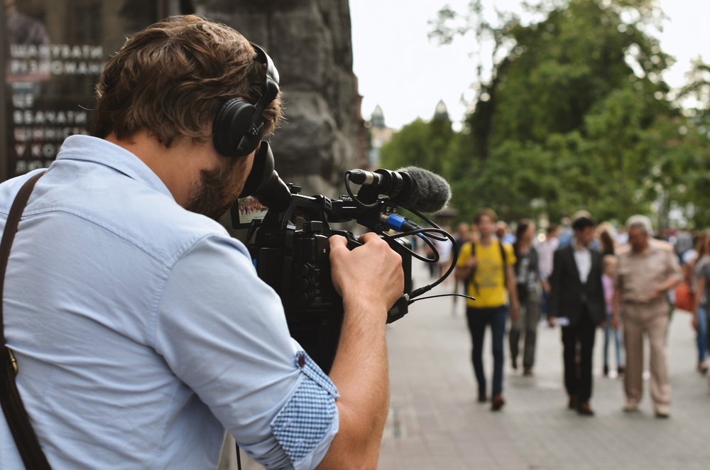
[[[427,273],[417,268],[415,284],[425,282]],[[707,378],[695,371],[694,331],[687,313],[674,315],[669,332],[670,420],[653,416],[648,382],[640,412],[621,411],[621,381],[601,376],[601,331],[591,400],[596,416],[567,410],[559,329],[543,325],[532,378],[510,368],[506,338],[503,387],[508,403],[501,412],[491,412],[489,403],[476,402],[463,299],[455,314],[450,297],[422,300],[388,328],[391,408],[379,470],[706,470],[710,465],[710,392]],[[488,335],[489,381],[490,345]],[[243,464],[245,470],[261,469],[253,461]]]

